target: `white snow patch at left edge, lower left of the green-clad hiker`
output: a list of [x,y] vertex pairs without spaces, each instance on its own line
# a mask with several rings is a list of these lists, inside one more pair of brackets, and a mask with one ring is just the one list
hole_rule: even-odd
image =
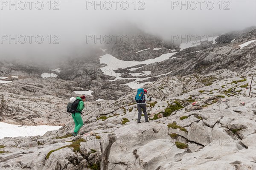
[[48,125],[21,126],[0,122],[0,138],[44,135],[48,131],[58,130],[61,127]]

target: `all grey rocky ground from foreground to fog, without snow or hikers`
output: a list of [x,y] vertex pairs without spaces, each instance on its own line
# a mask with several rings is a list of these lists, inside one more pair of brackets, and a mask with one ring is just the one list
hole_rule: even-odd
[[[248,28],[179,51],[148,35],[144,46],[112,44],[63,60],[55,66],[60,72],[1,61],[0,76],[12,82],[0,84],[0,121],[63,127],[43,136],[0,139],[0,169],[256,169],[256,41],[239,46],[255,39],[256,29]],[[136,53],[143,49],[148,50]],[[101,70],[106,53],[145,61],[171,52],[164,61],[116,69],[119,79]],[[150,74],[138,75],[143,71]],[[45,72],[56,77],[42,78]],[[143,86],[153,99],[147,102],[149,123],[142,116],[137,124],[137,91],[127,85],[135,79],[149,82]],[[84,126],[73,137],[66,106],[81,90],[93,93],[84,102]]]

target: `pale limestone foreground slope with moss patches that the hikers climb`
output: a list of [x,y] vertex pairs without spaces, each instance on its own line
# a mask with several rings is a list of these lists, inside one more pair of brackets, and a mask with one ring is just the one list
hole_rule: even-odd
[[[44,136],[1,139],[0,167],[9,169],[255,169],[256,74],[220,70],[163,77],[145,86],[150,122],[137,124],[133,97],[103,101]],[[214,77],[214,78],[213,78]],[[214,80],[213,80],[214,79]],[[207,83],[205,85],[204,83]],[[198,102],[195,106],[192,102]],[[244,102],[245,105],[240,103]],[[91,107],[88,107],[91,108]],[[29,158],[34,159],[29,159]]]

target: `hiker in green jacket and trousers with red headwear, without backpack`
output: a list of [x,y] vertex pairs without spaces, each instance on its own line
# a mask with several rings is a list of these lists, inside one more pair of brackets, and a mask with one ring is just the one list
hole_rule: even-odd
[[72,117],[75,122],[75,130],[74,133],[72,133],[73,136],[76,136],[78,134],[79,129],[84,125],[81,114],[82,110],[84,109],[85,96],[82,95],[80,97],[77,97],[76,99],[79,99],[79,104],[77,105],[76,113],[72,113]]

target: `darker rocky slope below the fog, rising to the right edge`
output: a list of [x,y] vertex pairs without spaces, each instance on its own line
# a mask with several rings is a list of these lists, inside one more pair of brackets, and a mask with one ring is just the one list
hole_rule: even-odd
[[[187,75],[192,73],[206,74],[219,69],[228,68],[231,71],[243,72],[255,65],[256,42],[240,49],[244,42],[256,39],[256,29],[242,34],[235,41],[226,44],[205,44],[186,48],[163,62],[152,63],[140,70],[149,70],[154,74],[167,73],[173,70],[172,75]],[[217,41],[217,40],[216,40]],[[202,50],[196,52],[196,50]],[[185,52],[186,51],[186,52]]]

